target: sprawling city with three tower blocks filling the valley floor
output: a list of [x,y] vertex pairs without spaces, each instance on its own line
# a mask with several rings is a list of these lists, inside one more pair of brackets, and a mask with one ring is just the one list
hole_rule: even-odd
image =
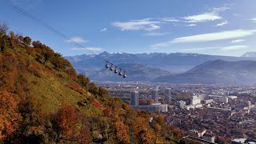
[[186,131],[187,140],[255,142],[256,86],[96,83],[136,110],[164,115],[168,125]]

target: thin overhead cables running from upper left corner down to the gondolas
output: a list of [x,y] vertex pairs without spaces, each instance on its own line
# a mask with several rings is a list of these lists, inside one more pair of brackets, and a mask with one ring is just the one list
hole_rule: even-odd
[[6,5],[12,7],[18,13],[20,13],[20,14],[26,16],[27,18],[32,19],[34,22],[37,22],[38,24],[44,26],[47,30],[50,30],[50,32],[52,32],[53,34],[57,35],[58,37],[62,37],[64,39],[66,39],[66,41],[69,41],[70,43],[74,44],[75,46],[78,46],[79,49],[82,49],[82,50],[86,49],[91,54],[94,54],[96,57],[102,58],[102,60],[104,60],[106,62],[110,62],[106,58],[103,58],[103,57],[99,56],[98,54],[95,54],[92,50],[87,49],[86,46],[82,46],[78,42],[74,42],[74,40],[69,38],[68,36],[66,36],[66,34],[63,34],[59,30],[56,30],[56,29],[54,29],[54,27],[50,26],[50,24],[48,24],[46,22],[43,22],[39,18],[35,17],[34,15],[26,12],[26,10],[23,10],[20,6],[15,5],[14,2],[11,2],[10,0],[2,0],[2,2],[4,2]]

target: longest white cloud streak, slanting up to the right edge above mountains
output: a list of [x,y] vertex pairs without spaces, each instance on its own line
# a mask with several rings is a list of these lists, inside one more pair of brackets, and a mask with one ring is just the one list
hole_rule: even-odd
[[170,46],[171,44],[174,44],[174,43],[211,42],[211,41],[226,40],[226,39],[232,39],[232,38],[243,38],[246,36],[253,35],[255,33],[256,33],[256,29],[254,29],[254,30],[227,30],[227,31],[220,31],[220,32],[215,32],[215,33],[198,34],[198,35],[174,38],[169,42],[162,42],[162,43],[154,44],[152,46],[163,47],[163,46]]

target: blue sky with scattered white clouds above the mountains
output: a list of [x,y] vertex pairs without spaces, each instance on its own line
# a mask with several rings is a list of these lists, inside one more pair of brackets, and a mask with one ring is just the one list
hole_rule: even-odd
[[8,0],[69,40],[2,1],[0,22],[64,56],[88,50],[228,56],[256,51],[255,0]]

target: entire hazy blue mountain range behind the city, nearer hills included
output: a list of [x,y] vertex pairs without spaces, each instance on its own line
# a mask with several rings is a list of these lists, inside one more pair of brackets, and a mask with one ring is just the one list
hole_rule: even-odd
[[[247,70],[248,74],[243,74],[241,70],[233,66],[243,65],[244,62],[254,66],[254,60],[256,60],[254,52],[243,54],[241,57],[190,53],[110,54],[102,52],[98,55],[82,54],[66,58],[70,60],[78,73],[86,74],[90,79],[97,81],[251,83],[250,78],[247,77],[256,74],[250,69],[247,70],[246,67],[237,66],[242,70]],[[104,68],[105,61],[100,58],[122,67],[127,71],[128,77],[126,79],[114,77],[114,74]],[[214,65],[214,70],[209,69],[211,65]],[[222,70],[223,66],[229,69]],[[218,74],[222,74],[224,78]],[[241,75],[242,78],[238,78]]]

